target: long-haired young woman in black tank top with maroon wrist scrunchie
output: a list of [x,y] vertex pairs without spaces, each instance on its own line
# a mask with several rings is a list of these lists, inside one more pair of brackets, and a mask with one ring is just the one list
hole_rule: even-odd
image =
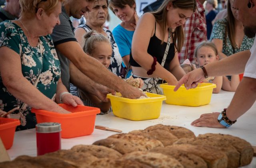
[[195,0],[164,0],[156,12],[140,18],[132,39],[130,64],[133,76],[143,78],[144,91],[159,93],[158,83],[162,81],[158,78],[176,85],[185,74],[178,60],[184,43],[182,25],[195,9]]

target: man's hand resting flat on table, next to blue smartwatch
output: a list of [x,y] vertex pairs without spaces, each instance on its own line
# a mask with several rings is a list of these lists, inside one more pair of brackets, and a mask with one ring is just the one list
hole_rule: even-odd
[[213,112],[208,114],[202,114],[200,118],[194,120],[192,126],[202,126],[202,127],[211,127],[211,128],[226,128],[218,122],[219,112]]

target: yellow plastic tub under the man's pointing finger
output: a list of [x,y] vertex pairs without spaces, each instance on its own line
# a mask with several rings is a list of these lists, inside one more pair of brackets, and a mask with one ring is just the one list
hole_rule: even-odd
[[184,85],[174,92],[175,86],[160,84],[166,96],[166,104],[174,104],[180,106],[203,106],[209,104],[212,97],[212,90],[216,88],[216,84],[200,83],[194,89],[186,90]]

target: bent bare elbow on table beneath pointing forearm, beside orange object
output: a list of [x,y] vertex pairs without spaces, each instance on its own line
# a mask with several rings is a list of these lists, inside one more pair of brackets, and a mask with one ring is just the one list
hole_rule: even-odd
[[222,89],[230,92],[235,92],[240,83],[239,75],[232,75],[231,81],[226,76],[223,76]]

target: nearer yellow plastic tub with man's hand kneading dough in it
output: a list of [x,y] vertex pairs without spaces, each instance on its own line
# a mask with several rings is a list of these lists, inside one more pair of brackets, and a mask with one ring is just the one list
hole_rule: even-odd
[[160,116],[162,102],[166,97],[159,94],[146,93],[150,98],[129,99],[122,98],[120,93],[118,96],[107,94],[110,99],[113,114],[120,118],[133,121],[151,120]]

